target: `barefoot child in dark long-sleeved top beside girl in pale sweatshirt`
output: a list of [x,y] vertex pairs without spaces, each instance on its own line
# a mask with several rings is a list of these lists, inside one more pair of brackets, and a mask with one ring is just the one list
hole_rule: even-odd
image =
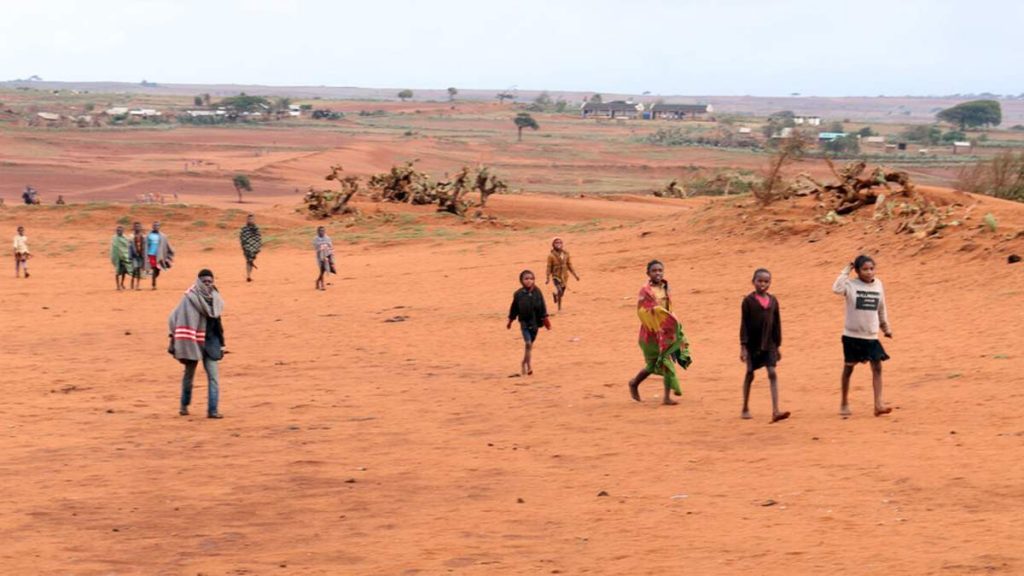
[[754,372],[759,368],[768,370],[771,389],[771,421],[777,422],[790,417],[788,412],[778,409],[778,377],[775,365],[782,359],[778,349],[782,345],[782,321],[778,312],[778,300],[768,293],[771,273],[758,269],[754,273],[754,291],[743,298],[739,323],[739,361],[746,364],[743,377],[743,419],[751,418],[751,384]]

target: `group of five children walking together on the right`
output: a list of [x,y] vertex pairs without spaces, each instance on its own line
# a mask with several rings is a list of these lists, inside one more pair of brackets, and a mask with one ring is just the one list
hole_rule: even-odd
[[[889,360],[880,332],[892,338],[886,307],[885,289],[882,281],[874,276],[876,263],[870,256],[859,255],[850,262],[837,278],[833,291],[846,300],[846,323],[843,330],[843,375],[841,380],[840,414],[851,414],[849,404],[850,377],[858,364],[868,363],[871,367],[871,381],[874,393],[874,415],[892,412],[886,406],[882,395],[882,363]],[[856,273],[851,278],[851,273]],[[571,274],[577,281],[569,254],[564,243],[556,238],[548,255],[548,271],[545,284],[555,282],[554,301],[561,310],[565,297],[566,280]],[[771,393],[771,422],[785,420],[788,411],[779,407],[778,374],[776,371],[782,359],[782,321],[778,299],[769,292],[772,275],[766,269],[755,271],[751,283],[754,290],[740,303],[739,361],[745,365],[742,396],[743,406],[740,417],[751,419],[750,396],[755,373],[764,368],[768,373]],[[512,295],[507,328],[519,321],[525,342],[522,360],[522,375],[531,375],[534,342],[541,326],[551,329],[544,295],[537,288],[532,272],[519,273],[520,289]],[[644,367],[629,381],[630,397],[640,402],[640,384],[650,375],[662,376],[665,396],[663,404],[677,404],[673,396],[681,396],[682,388],[676,365],[686,369],[692,363],[689,341],[683,332],[682,323],[673,313],[672,293],[665,278],[665,264],[658,260],[647,263],[647,282],[640,288],[637,297],[637,316],[640,320],[639,344],[644,357]]]

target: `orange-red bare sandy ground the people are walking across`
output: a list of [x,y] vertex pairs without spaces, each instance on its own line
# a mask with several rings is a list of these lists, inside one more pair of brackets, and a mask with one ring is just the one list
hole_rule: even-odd
[[[923,241],[869,217],[812,223],[808,201],[758,212],[749,199],[495,197],[501,225],[418,210],[412,234],[365,203],[369,220],[331,225],[340,271],[321,293],[315,222],[294,214],[291,186],[243,205],[283,239],[252,284],[230,190],[200,198],[208,208],[0,211],[37,255],[31,279],[0,275],[3,572],[1024,572],[1024,264],[1006,263],[1024,252],[1024,207],[927,191],[980,204]],[[978,229],[985,212],[997,234]],[[162,219],[178,251],[156,292],[113,290],[122,216]],[[409,239],[345,242],[357,234]],[[555,234],[583,281],[541,335],[537,374],[512,378],[510,296]],[[895,410],[871,416],[862,367],[843,419],[829,287],[860,251],[889,293]],[[676,407],[658,405],[657,378],[642,404],[626,388],[652,257],[695,358]],[[763,375],[755,419],[739,419],[738,306],[761,265],[782,305],[794,413],[776,424]],[[167,315],[201,268],[227,302],[220,421],[201,417],[202,375],[197,415],[177,415],[180,367],[164,353]]]

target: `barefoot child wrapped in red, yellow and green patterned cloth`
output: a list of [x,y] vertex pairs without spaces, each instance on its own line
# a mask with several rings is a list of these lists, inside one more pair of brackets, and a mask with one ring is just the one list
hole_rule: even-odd
[[682,396],[676,366],[685,370],[692,363],[689,342],[683,334],[679,319],[672,314],[672,295],[669,281],[665,280],[665,264],[658,260],[647,263],[647,284],[640,288],[637,301],[640,318],[640,349],[646,365],[630,380],[630,397],[640,402],[640,383],[651,374],[665,380],[665,399],[662,404],[678,404],[669,396],[670,390]]

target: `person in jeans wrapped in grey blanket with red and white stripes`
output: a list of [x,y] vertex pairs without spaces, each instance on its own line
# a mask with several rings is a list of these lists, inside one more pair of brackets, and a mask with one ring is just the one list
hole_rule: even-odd
[[188,415],[193,380],[200,361],[206,371],[207,418],[223,418],[217,410],[220,381],[217,363],[224,358],[224,329],[220,315],[224,300],[213,283],[213,273],[202,270],[196,284],[185,291],[168,318],[170,343],[167,352],[184,365],[181,377],[181,407],[178,414]]

